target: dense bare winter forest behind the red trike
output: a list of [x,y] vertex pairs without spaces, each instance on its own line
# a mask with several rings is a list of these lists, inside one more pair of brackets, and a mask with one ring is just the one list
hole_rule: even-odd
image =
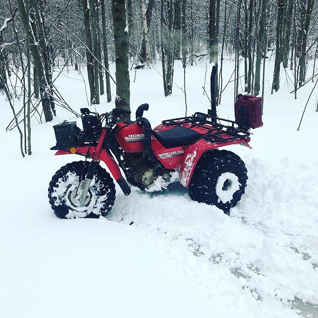
[[[51,121],[59,107],[76,114],[55,86],[69,69],[87,72],[90,104],[99,104],[103,94],[110,102],[113,81],[116,107],[129,109],[133,79],[127,70],[159,63],[162,94],[169,96],[174,64],[181,61],[187,107],[186,70],[204,57],[218,70],[218,104],[227,86],[225,56],[235,61],[234,100],[243,80],[243,91],[264,101],[266,60],[273,57],[271,93],[290,69],[288,89],[297,98],[297,90],[317,76],[317,10],[315,0],[1,0],[0,92],[13,114],[6,129],[19,130],[25,154],[32,116]],[[12,98],[23,100],[23,107],[14,109]],[[30,138],[28,143],[30,154]]]

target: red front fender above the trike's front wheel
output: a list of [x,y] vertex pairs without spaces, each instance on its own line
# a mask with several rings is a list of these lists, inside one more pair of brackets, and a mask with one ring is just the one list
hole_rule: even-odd
[[[96,149],[95,146],[78,147],[76,148],[77,150],[76,154],[88,155],[92,157],[94,160],[104,161],[110,173],[113,175],[114,179],[118,181],[122,177],[122,174],[120,172],[117,162],[111,156],[107,154],[105,149],[101,149],[98,158],[95,158],[95,149]],[[55,153],[55,156],[60,156],[60,155],[72,155],[72,153],[70,152],[69,149],[59,150]]]

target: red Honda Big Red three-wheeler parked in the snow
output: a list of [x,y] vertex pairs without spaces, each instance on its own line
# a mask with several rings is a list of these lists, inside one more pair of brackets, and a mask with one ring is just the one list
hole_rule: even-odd
[[[238,98],[236,122],[208,114],[164,120],[152,129],[138,107],[135,121],[120,121],[130,111],[115,108],[98,115],[81,109],[83,130],[76,122],[54,126],[56,155],[76,154],[84,161],[61,167],[49,186],[57,217],[106,217],[115,201],[115,179],[125,195],[134,185],[144,191],[165,189],[179,180],[191,199],[228,212],[244,193],[247,170],[234,153],[219,148],[247,146],[249,128],[262,125],[260,97]],[[250,148],[250,147],[249,147]],[[110,174],[99,163],[103,161]],[[124,173],[127,181],[122,175]]]

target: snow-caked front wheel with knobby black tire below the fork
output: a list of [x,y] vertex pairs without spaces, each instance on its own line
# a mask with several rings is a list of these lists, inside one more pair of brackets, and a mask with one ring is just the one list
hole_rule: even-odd
[[49,185],[49,202],[60,219],[106,217],[115,201],[115,185],[109,173],[97,166],[90,183],[84,206],[76,205],[74,193],[81,175],[85,176],[88,161],[74,161],[61,167],[52,177]]

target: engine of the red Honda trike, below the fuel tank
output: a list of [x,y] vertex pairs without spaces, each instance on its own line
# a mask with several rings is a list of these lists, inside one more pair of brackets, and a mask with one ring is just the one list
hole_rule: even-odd
[[143,153],[123,153],[124,166],[128,169],[129,182],[144,189],[152,185],[159,175],[166,181],[170,175],[161,165],[145,159]]

